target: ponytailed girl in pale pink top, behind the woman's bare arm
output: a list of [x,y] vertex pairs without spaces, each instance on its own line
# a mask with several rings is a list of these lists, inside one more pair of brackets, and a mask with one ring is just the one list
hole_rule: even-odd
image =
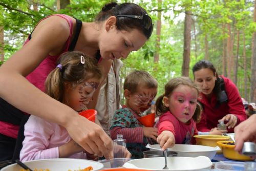
[[[62,54],[57,62],[57,67],[46,79],[46,94],[77,112],[87,109],[101,80],[97,61],[74,51]],[[21,161],[50,158],[97,160],[98,158],[97,155],[85,152],[71,139],[64,127],[37,116],[30,116],[25,124],[24,135],[23,148],[20,151]]]

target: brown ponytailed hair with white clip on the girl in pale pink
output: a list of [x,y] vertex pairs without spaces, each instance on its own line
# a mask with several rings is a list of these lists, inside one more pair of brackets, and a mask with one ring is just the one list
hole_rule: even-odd
[[[81,56],[84,63],[81,63]],[[65,82],[71,83],[74,88],[88,79],[96,78],[100,80],[102,77],[97,60],[86,56],[82,52],[63,53],[57,64],[58,66],[46,78],[45,92],[60,102],[63,100]]]

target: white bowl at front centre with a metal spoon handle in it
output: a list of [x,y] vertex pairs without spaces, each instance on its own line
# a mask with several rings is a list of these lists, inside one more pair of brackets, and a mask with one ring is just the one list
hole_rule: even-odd
[[208,157],[167,157],[167,167],[169,169],[162,169],[165,165],[164,157],[144,158],[131,160],[124,163],[124,168],[137,168],[146,170],[197,170],[210,168],[212,163]]

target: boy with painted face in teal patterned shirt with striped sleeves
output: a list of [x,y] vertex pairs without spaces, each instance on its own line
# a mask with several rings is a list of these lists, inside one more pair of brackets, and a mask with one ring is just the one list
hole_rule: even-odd
[[145,127],[139,122],[144,111],[150,108],[157,94],[157,81],[145,71],[134,71],[126,76],[123,84],[125,105],[112,118],[110,135],[116,139],[122,134],[132,158],[143,158],[147,138],[157,138],[156,127]]

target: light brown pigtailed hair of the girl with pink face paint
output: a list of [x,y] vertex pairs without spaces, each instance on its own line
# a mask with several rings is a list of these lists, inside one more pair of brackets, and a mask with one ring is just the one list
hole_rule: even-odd
[[[180,85],[189,86],[190,88],[196,89],[197,93],[199,94],[199,89],[197,87],[197,84],[195,82],[193,82],[190,78],[188,78],[188,77],[177,77],[177,78],[170,79],[164,86],[164,94],[159,96],[156,100],[156,114],[158,116],[160,116],[160,115],[166,113],[167,111],[169,111],[169,108],[167,108],[163,104],[163,98],[164,97],[169,98],[170,95],[172,95],[173,91]],[[199,109],[199,108],[200,108],[200,106],[197,105],[196,111],[194,113],[194,115],[196,115],[196,116],[193,117],[193,119],[195,119],[195,120],[200,119],[199,117],[200,117],[201,109]]]

